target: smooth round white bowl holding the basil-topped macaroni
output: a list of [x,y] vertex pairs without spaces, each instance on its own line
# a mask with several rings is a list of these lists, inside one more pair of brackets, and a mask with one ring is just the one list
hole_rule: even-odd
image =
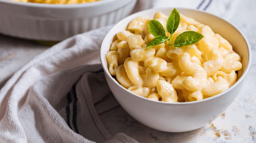
[[128,91],[110,75],[107,68],[105,55],[109,51],[114,35],[120,30],[126,29],[127,24],[137,16],[148,16],[153,19],[156,12],[161,11],[169,15],[172,9],[173,8],[157,8],[144,10],[118,22],[106,34],[102,41],[100,59],[107,83],[115,98],[127,113],[142,124],[156,130],[185,132],[209,124],[219,117],[235,100],[242,88],[245,75],[249,70],[251,51],[249,43],[242,32],[229,22],[204,11],[177,8],[181,14],[192,17],[198,22],[210,26],[215,33],[219,33],[233,45],[233,50],[241,56],[243,65],[238,73],[238,81],[229,89],[218,95],[201,101],[185,103],[153,101]]

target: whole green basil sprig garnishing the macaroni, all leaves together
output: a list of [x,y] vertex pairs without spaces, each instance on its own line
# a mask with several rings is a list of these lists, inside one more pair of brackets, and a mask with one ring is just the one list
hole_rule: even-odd
[[175,47],[182,47],[187,45],[193,45],[200,41],[204,36],[201,33],[195,31],[186,31],[181,33],[171,44],[172,34],[177,30],[180,24],[180,13],[176,8],[174,8],[166,22],[166,30],[171,34],[170,37],[166,36],[165,30],[157,20],[151,20],[148,24],[149,32],[155,37],[147,44],[147,48],[153,47],[155,45],[167,42],[168,45],[173,45]]

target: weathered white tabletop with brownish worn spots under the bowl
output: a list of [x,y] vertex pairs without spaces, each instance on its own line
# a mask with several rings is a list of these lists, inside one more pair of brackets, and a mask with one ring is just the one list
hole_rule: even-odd
[[[254,142],[256,143],[256,1],[241,2],[227,19],[249,41],[252,62],[245,85],[231,106],[212,123],[190,132],[168,133],[146,127],[128,115],[121,106],[100,115],[112,135],[123,132],[143,142]],[[49,46],[30,40],[0,35],[0,87],[20,67]],[[114,124],[113,124],[114,123]]]

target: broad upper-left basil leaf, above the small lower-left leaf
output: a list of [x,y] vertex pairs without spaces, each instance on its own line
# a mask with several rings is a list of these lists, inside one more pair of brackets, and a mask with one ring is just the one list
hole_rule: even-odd
[[165,30],[163,28],[163,25],[160,24],[160,22],[157,21],[157,20],[149,21],[149,23],[148,23],[148,30],[156,38],[157,37],[165,37],[166,36]]

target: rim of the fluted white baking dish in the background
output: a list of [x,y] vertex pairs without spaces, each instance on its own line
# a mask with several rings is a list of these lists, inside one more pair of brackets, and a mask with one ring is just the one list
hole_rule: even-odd
[[103,5],[107,3],[114,3],[119,0],[100,0],[90,3],[81,3],[81,4],[44,4],[44,3],[30,3],[30,2],[17,2],[11,0],[0,0],[0,4],[10,4],[16,6],[24,6],[24,7],[36,7],[36,8],[88,8],[88,7],[96,7],[98,5]]

